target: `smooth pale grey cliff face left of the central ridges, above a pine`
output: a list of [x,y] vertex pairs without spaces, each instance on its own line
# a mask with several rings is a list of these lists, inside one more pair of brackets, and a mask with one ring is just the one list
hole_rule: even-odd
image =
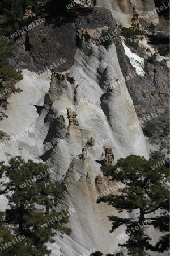
[[[36,79],[32,77],[35,75],[34,72],[26,69],[22,72],[24,79],[18,82],[16,87],[23,92],[12,94],[7,99],[9,104],[7,110],[4,110],[7,118],[4,118],[0,124],[0,130],[7,133],[7,139],[11,140],[0,148],[0,157],[5,163],[8,163],[11,156],[22,155],[24,159],[34,159],[41,154],[34,140],[35,133],[24,133],[24,131],[29,130],[30,127],[33,129],[33,122],[39,117],[34,105],[43,106],[44,104],[44,96],[50,85],[50,72],[45,72]],[[3,141],[1,140],[0,143]]]

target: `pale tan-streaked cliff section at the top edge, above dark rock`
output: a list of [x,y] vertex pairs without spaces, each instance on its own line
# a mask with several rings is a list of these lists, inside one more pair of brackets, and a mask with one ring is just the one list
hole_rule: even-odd
[[159,23],[158,15],[150,15],[149,11],[153,11],[155,8],[154,0],[97,0],[97,6],[101,6],[111,10],[113,17],[117,23],[122,23],[123,26],[131,25],[131,18],[133,16],[133,10],[135,10],[139,18],[148,15],[147,22]]

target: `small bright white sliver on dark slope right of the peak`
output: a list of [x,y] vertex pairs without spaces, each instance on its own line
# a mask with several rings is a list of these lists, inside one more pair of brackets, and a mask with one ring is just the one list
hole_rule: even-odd
[[122,42],[125,50],[125,54],[129,57],[131,65],[136,69],[136,72],[139,76],[145,76],[144,71],[144,58],[139,57],[137,54],[130,51],[128,46]]

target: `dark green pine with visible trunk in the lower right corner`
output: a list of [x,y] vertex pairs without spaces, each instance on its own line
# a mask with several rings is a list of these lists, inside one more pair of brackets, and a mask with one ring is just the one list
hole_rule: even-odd
[[[128,248],[131,256],[147,255],[148,250],[163,252],[169,247],[169,169],[162,165],[152,170],[151,166],[156,163],[154,159],[147,161],[136,155],[119,159],[111,174],[113,180],[125,184],[124,188],[119,189],[121,195],[108,195],[97,200],[97,203],[108,202],[119,212],[131,213],[138,210],[134,218],[109,217],[113,222],[112,232],[123,224],[128,233],[131,231],[128,241],[120,245]],[[139,229],[134,229],[135,226]],[[148,226],[154,226],[162,232],[162,237],[155,246],[150,245],[150,237],[146,235]]]

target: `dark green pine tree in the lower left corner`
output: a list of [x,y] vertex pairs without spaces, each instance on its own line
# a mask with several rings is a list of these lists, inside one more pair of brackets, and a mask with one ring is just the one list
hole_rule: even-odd
[[[5,224],[1,223],[1,226],[9,226],[14,237],[25,236],[25,240],[21,242],[23,254],[11,254],[11,249],[6,249],[6,255],[50,255],[46,243],[54,242],[53,236],[57,231],[71,233],[71,229],[63,225],[69,221],[68,214],[65,210],[56,212],[54,209],[62,191],[61,185],[58,181],[53,182],[50,179],[48,166],[34,163],[32,160],[25,162],[20,156],[11,159],[8,166],[0,163],[0,177],[5,180],[2,184],[4,189],[0,194],[6,194],[9,201],[9,209],[5,212]],[[25,183],[26,180],[28,184]],[[41,227],[59,215],[64,215],[61,220],[52,221],[45,228]],[[10,232],[7,234],[11,236]],[[1,243],[4,244],[3,233],[0,233],[0,237],[3,238]],[[17,246],[18,243],[12,246],[14,251],[17,250]],[[0,255],[4,255],[3,253],[4,251],[0,251]]]

